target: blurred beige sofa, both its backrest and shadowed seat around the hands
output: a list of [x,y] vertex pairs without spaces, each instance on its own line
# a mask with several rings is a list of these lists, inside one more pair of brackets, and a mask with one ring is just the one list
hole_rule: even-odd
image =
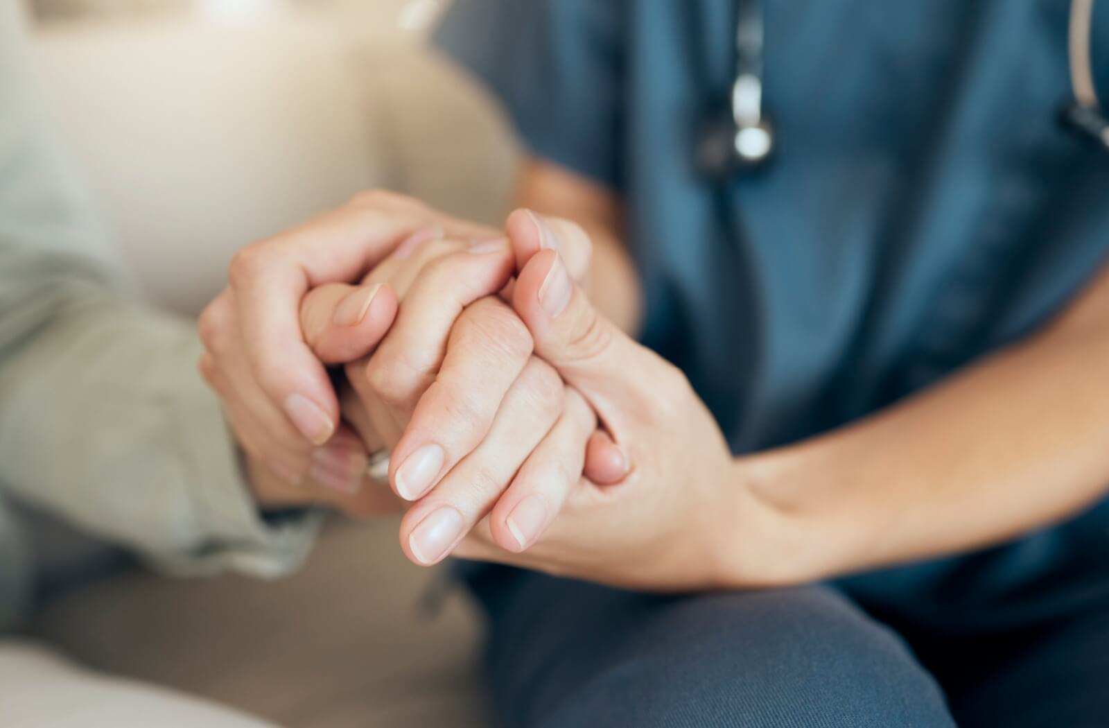
[[[440,0],[28,4],[62,136],[157,305],[195,315],[236,250],[359,190],[491,222],[507,209],[516,144],[428,47]],[[51,603],[34,631],[279,725],[481,726],[480,623],[460,590],[435,597],[442,576],[404,558],[395,519],[335,524],[292,579],[132,569]]]

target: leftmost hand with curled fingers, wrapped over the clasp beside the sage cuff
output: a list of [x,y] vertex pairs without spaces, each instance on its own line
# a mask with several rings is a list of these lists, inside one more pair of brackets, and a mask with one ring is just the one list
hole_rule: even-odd
[[[356,282],[406,239],[489,235],[490,230],[436,213],[386,192],[359,195],[296,230],[245,247],[232,262],[230,286],[201,316],[204,378],[223,398],[263,505],[346,502],[365,472],[359,438],[339,424],[324,364],[370,351],[391,324],[396,296],[387,287],[336,306],[362,318],[313,351],[301,327],[309,289]],[[328,350],[330,346],[330,350]],[[268,473],[263,476],[263,473]],[[356,508],[357,509],[357,508]]]

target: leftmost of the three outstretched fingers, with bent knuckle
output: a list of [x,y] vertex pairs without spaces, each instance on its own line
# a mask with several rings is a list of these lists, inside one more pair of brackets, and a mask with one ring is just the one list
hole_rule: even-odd
[[[448,331],[442,332],[449,335],[449,343],[438,373],[433,374],[430,367],[418,372],[427,378],[434,376],[434,383],[419,397],[393,451],[390,482],[408,501],[435,487],[444,473],[485,439],[501,400],[531,356],[527,328],[508,305],[494,296],[469,306]],[[416,340],[418,334],[427,332],[416,330],[407,341]],[[398,325],[397,340],[390,337],[389,343],[405,342],[400,335]],[[436,350],[441,346],[429,341],[421,344]],[[418,351],[419,345],[409,344],[409,350]],[[425,361],[431,363],[430,357]],[[415,388],[416,384],[404,382],[396,386]]]

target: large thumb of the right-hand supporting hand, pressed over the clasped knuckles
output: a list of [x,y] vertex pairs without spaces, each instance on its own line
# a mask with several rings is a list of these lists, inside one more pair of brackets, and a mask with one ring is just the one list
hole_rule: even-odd
[[683,401],[681,373],[598,312],[554,252],[528,262],[512,304],[536,353],[584,395],[618,442],[621,432],[657,416],[660,406]]

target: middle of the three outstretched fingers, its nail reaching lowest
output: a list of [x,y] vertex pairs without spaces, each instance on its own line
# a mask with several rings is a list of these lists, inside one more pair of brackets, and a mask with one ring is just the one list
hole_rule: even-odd
[[400,522],[400,543],[416,564],[445,558],[494,506],[562,412],[563,386],[532,358],[506,395],[489,435]]

